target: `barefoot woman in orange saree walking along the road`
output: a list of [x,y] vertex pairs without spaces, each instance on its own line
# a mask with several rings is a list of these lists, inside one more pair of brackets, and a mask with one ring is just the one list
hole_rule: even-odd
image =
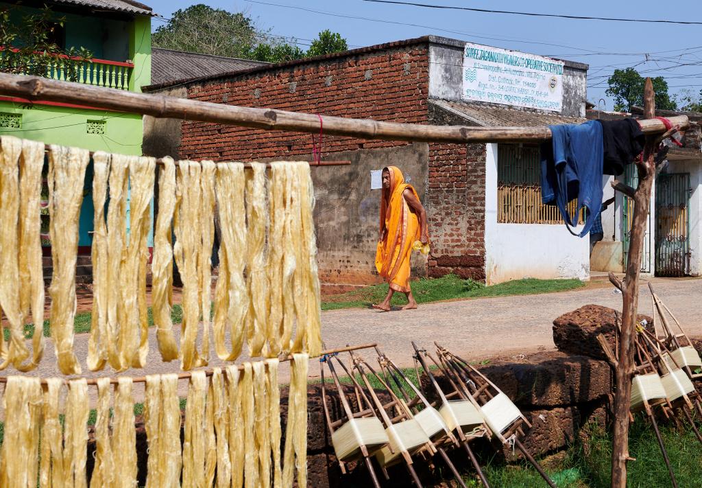
[[388,296],[374,309],[390,311],[395,292],[404,293],[408,303],[403,310],[416,309],[409,286],[410,257],[416,240],[429,242],[427,212],[414,188],[404,182],[398,167],[383,168],[383,193],[380,197],[380,232],[376,250],[376,269],[388,281]]

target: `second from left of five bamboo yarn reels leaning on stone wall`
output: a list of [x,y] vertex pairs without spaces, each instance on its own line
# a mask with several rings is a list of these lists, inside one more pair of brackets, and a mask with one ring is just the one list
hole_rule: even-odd
[[[414,484],[421,488],[423,485],[419,480],[413,466],[412,456],[425,455],[433,456],[437,449],[428,435],[422,430],[417,420],[414,419],[409,407],[402,401],[392,388],[385,383],[383,378],[370,366],[362,357],[353,352],[349,352],[353,364],[352,371],[357,371],[366,385],[366,391],[373,400],[376,413],[385,425],[385,432],[388,433],[390,443],[376,451],[376,461],[383,468],[383,474],[388,476],[387,468],[391,465],[403,463],[409,472]],[[385,388],[390,396],[390,402],[383,404],[373,386],[370,378],[376,380]]]

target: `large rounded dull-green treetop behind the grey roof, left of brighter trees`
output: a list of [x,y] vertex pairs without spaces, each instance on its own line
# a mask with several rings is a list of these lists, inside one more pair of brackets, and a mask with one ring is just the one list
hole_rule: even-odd
[[164,49],[249,58],[258,35],[255,23],[244,13],[197,4],[173,13],[151,39],[155,47]]

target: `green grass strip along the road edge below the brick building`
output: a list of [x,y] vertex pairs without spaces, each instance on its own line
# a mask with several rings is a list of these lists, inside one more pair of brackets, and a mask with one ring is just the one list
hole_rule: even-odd
[[[508,295],[536,295],[573,290],[585,286],[580,280],[537,280],[527,278],[512,280],[498,285],[484,286],[473,280],[464,280],[455,274],[442,278],[420,278],[412,282],[412,293],[418,303],[439,302],[456,298],[502,297]],[[388,295],[388,284],[370,285],[338,295],[323,297],[322,310],[370,307],[382,302]],[[392,305],[404,305],[407,299],[402,293],[395,293]]]

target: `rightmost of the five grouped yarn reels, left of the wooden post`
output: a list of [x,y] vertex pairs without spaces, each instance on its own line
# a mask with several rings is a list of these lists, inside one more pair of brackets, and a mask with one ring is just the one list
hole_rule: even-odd
[[470,365],[465,359],[452,354],[444,347],[436,344],[439,361],[437,366],[447,378],[451,378],[461,397],[472,399],[479,406],[491,434],[503,444],[516,447],[524,458],[534,466],[551,488],[557,488],[548,477],[541,465],[536,462],[524,444],[519,440],[524,435],[522,425],[531,428],[531,423],[512,404],[512,401],[492,383],[484,374]]

